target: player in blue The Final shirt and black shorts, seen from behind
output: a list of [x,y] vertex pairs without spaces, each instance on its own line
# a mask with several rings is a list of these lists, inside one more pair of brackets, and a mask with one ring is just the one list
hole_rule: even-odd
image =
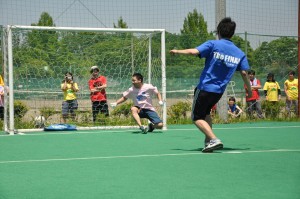
[[222,149],[223,143],[212,131],[211,108],[222,97],[228,82],[235,71],[240,71],[248,95],[252,96],[247,70],[250,69],[243,51],[233,44],[230,38],[234,35],[236,23],[226,17],[217,27],[219,40],[209,40],[196,48],[171,50],[171,54],[194,55],[205,58],[205,67],[201,73],[198,86],[195,88],[192,107],[192,120],[205,134],[205,147],[202,152]]

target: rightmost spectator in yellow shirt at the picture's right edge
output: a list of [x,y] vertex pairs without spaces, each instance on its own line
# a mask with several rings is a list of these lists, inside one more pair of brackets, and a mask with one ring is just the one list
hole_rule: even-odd
[[291,108],[298,113],[298,79],[295,78],[295,72],[289,71],[289,77],[284,82],[284,92],[286,94],[286,110],[290,114]]

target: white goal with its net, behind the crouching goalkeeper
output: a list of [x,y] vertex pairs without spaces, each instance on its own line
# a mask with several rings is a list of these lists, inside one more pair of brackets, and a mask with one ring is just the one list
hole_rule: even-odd
[[[163,29],[108,29],[41,26],[7,26],[3,29],[5,131],[42,130],[62,123],[65,73],[78,84],[78,109],[68,124],[77,129],[137,128],[130,115],[131,100],[109,107],[109,116],[92,119],[88,81],[90,69],[98,66],[107,78],[107,103],[115,102],[138,72],[144,83],[158,88],[166,99],[165,31]],[[166,104],[153,105],[166,129]],[[143,121],[145,125],[148,121]]]

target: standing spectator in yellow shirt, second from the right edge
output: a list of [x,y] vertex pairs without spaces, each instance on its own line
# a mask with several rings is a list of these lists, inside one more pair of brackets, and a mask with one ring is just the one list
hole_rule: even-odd
[[267,76],[267,81],[264,85],[264,93],[266,96],[266,116],[271,116],[271,118],[276,118],[279,113],[279,106],[277,106],[280,98],[281,91],[278,82],[274,78],[273,73],[269,73]]

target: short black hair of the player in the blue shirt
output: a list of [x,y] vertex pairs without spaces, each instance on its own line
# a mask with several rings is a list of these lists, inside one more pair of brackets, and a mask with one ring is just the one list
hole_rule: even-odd
[[221,38],[230,39],[235,32],[236,23],[230,17],[225,17],[220,21],[217,27],[217,33]]

